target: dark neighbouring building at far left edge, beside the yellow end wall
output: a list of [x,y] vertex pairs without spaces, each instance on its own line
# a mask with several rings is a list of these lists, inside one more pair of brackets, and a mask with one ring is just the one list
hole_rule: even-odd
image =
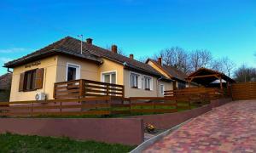
[[6,73],[3,76],[0,76],[0,101],[9,101],[11,82],[11,73]]

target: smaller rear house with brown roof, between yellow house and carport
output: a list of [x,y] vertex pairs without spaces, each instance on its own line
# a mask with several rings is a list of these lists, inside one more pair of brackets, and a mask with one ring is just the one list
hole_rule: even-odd
[[[188,76],[170,65],[163,64],[162,58],[158,58],[158,61],[155,61],[154,59],[147,59],[146,64],[152,66],[155,71],[158,71],[164,77],[172,79],[172,89],[182,89],[188,87],[189,84],[186,81]],[[162,90],[170,90],[169,88],[166,89],[164,85],[161,85],[160,88],[164,88]]]

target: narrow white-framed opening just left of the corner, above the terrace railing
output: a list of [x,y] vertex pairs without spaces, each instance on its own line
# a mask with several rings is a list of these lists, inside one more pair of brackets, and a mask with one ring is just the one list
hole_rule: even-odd
[[80,65],[67,64],[67,82],[80,78]]

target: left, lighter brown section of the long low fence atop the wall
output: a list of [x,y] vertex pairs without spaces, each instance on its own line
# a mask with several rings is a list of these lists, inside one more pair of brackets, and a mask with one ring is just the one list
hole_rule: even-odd
[[0,116],[109,115],[110,97],[0,103]]

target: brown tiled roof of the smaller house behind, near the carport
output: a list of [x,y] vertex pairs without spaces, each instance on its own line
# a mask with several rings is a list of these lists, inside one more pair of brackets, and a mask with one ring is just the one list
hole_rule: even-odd
[[182,71],[178,71],[176,68],[174,68],[174,67],[172,67],[170,65],[160,65],[154,59],[148,59],[148,60],[152,61],[154,63],[154,65],[157,65],[158,67],[160,67],[172,79],[177,79],[177,80],[186,82],[186,78],[188,76],[186,74],[184,74]]

